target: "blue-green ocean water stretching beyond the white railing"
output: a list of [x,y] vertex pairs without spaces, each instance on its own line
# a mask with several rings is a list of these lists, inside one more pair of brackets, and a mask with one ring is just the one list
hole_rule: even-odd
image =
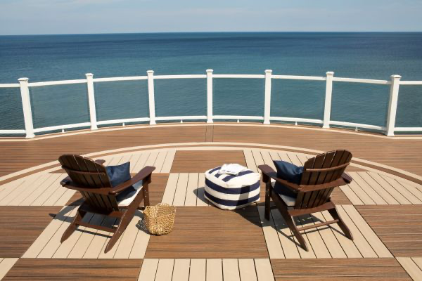
[[[422,80],[422,33],[236,32],[0,36],[0,83],[155,74]],[[157,116],[205,115],[205,79],[155,80]],[[215,115],[263,115],[263,79],[214,79]],[[99,120],[148,117],[146,81],[95,84]],[[325,81],[272,82],[271,116],[322,119]],[[30,89],[34,127],[89,122],[84,84]],[[389,87],[334,82],[331,119],[385,125]],[[422,86],[400,86],[396,126],[422,126]],[[19,89],[0,88],[0,129],[23,129]]]

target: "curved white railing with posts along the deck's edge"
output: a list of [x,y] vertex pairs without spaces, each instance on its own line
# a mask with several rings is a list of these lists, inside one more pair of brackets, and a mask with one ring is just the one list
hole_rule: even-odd
[[[322,124],[323,128],[330,128],[331,125],[345,126],[354,129],[372,129],[384,131],[387,136],[394,136],[395,131],[400,132],[414,132],[421,131],[422,127],[395,127],[395,119],[397,112],[397,100],[399,95],[399,85],[422,85],[422,81],[400,81],[399,75],[392,75],[391,80],[376,80],[376,79],[355,79],[355,78],[341,78],[334,77],[334,72],[327,72],[326,77],[315,76],[296,76],[296,75],[274,75],[272,70],[265,70],[264,74],[213,74],[212,70],[206,70],[206,74],[195,75],[154,75],[153,70],[148,70],[146,76],[134,77],[110,77],[110,78],[94,78],[94,74],[87,73],[86,79],[63,80],[63,81],[46,81],[30,83],[27,78],[18,79],[19,84],[0,84],[0,88],[20,88],[20,94],[23,105],[23,117],[25,121],[25,130],[0,130],[0,134],[24,134],[26,138],[33,138],[34,133],[41,133],[46,131],[65,131],[65,129],[75,129],[82,127],[91,127],[91,130],[98,129],[98,125],[107,124],[124,124],[130,122],[149,122],[149,124],[156,124],[157,121],[174,121],[180,120],[200,120],[204,119],[207,123],[212,123],[215,119],[234,119],[239,120],[256,120],[262,121],[264,124],[270,124],[271,121],[294,122],[295,124],[309,123]],[[155,116],[155,96],[154,96],[154,80],[155,79],[206,79],[207,81],[207,115],[205,116]],[[213,79],[264,79],[264,116],[243,116],[243,115],[213,115],[212,104],[212,80]],[[326,81],[326,93],[324,103],[324,117],[323,119],[307,119],[295,117],[274,117],[271,116],[271,80],[272,79],[293,79],[293,80],[312,80],[312,81]],[[134,81],[134,80],[148,80],[148,104],[149,116],[129,119],[114,119],[106,121],[98,121],[96,118],[96,104],[94,83],[108,82],[108,81]],[[339,82],[353,82],[366,84],[382,84],[390,85],[390,101],[388,105],[388,115],[386,126],[375,126],[371,124],[359,124],[352,122],[340,122],[331,120],[331,96],[333,95],[333,81]],[[87,95],[89,103],[89,122],[78,124],[65,124],[58,126],[49,126],[34,129],[32,122],[30,87],[37,86],[51,86],[51,85],[65,85],[65,84],[87,84]]]

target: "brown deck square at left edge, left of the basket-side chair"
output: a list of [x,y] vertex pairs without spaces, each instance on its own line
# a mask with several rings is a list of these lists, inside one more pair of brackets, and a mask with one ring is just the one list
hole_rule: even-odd
[[0,257],[19,258],[62,207],[0,207]]

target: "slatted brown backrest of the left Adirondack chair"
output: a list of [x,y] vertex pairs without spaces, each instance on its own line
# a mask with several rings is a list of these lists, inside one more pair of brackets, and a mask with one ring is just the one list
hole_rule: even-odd
[[79,155],[62,155],[58,158],[58,162],[76,185],[93,189],[93,192],[79,190],[91,207],[104,211],[119,209],[115,195],[94,192],[96,188],[110,188],[111,190],[110,178],[108,178],[105,166]]

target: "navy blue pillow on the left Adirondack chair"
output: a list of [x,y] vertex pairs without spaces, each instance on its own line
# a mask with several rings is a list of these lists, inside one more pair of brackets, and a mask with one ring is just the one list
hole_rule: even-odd
[[[120,183],[124,183],[125,181],[129,181],[131,179],[130,162],[117,166],[106,166],[106,171],[113,188],[117,185],[120,185]],[[117,202],[122,201],[124,198],[134,195],[135,192],[136,189],[133,186],[126,188],[116,196],[116,200]]]

